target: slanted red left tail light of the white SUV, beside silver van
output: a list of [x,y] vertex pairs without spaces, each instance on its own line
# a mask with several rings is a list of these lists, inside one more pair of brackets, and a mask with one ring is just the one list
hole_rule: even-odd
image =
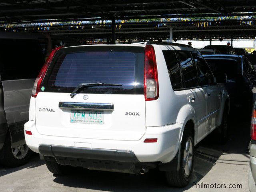
[[46,62],[44,63],[42,69],[40,70],[32,89],[32,97],[36,97],[37,94],[40,92],[41,84],[44,79],[44,76],[46,74],[46,71],[50,65],[50,62],[52,62],[52,58],[54,57],[55,53],[60,50],[64,46],[56,47],[52,52],[50,53],[49,57],[47,58]]

